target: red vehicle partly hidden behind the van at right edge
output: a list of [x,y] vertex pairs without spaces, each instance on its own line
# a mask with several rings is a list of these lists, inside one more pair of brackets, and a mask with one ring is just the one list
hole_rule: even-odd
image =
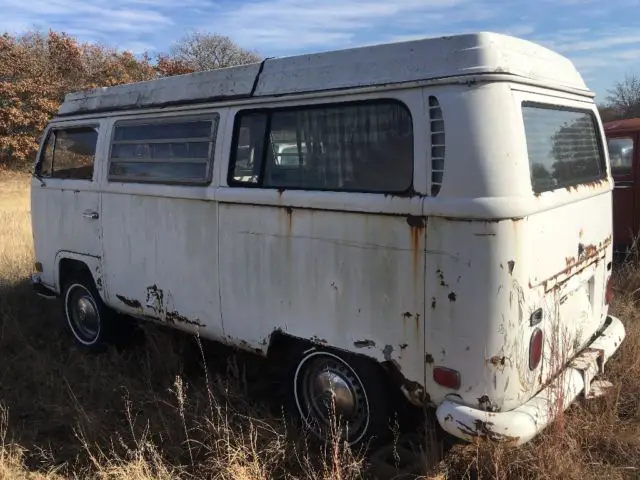
[[604,124],[613,175],[613,240],[617,252],[631,248],[640,230],[640,118]]

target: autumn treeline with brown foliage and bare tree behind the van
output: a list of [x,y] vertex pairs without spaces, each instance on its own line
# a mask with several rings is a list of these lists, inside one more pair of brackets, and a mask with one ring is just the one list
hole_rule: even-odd
[[29,166],[39,137],[73,91],[259,61],[228,37],[192,33],[140,57],[64,33],[0,35],[0,168]]

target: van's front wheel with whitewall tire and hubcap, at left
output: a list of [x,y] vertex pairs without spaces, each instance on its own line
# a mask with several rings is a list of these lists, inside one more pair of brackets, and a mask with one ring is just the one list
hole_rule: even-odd
[[[115,314],[100,298],[88,273],[74,273],[65,279],[62,308],[69,331],[82,347],[99,351],[113,342]],[[91,316],[94,318],[88,318]]]

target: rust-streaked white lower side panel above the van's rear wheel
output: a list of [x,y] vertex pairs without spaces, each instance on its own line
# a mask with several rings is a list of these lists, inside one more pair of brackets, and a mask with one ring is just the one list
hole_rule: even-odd
[[[264,351],[270,335],[282,330],[395,360],[405,378],[423,384],[422,199],[247,190],[217,194],[220,291],[229,341]],[[262,197],[260,206],[244,203],[253,196]],[[310,201],[314,196],[317,202]],[[334,209],[295,205],[319,208],[323,196]],[[273,204],[276,199],[280,205]],[[339,204],[344,210],[335,210]]]

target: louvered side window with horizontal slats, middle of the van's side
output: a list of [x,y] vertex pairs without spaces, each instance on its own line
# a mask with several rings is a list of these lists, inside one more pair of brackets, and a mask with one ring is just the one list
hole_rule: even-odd
[[109,180],[208,183],[218,118],[117,123],[111,141]]

